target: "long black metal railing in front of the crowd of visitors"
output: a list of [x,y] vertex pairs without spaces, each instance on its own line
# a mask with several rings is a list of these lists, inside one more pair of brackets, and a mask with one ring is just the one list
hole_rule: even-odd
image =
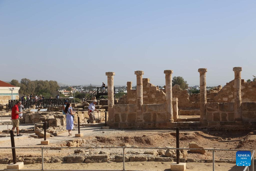
[[43,106],[61,106],[63,105],[64,101],[68,100],[72,103],[73,99],[70,98],[53,98],[53,99],[29,99],[29,100],[9,100],[9,103],[6,104],[6,108],[9,107],[11,109],[18,101],[21,101],[21,104],[24,108],[29,108],[31,105],[36,105],[36,107]]

